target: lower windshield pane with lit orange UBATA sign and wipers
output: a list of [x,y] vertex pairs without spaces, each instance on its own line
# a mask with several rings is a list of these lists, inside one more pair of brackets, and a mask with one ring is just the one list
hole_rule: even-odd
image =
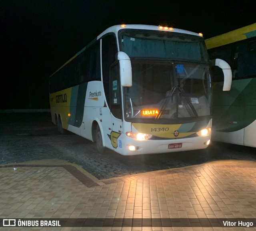
[[206,65],[132,60],[132,87],[124,87],[126,118],[184,118],[210,115]]

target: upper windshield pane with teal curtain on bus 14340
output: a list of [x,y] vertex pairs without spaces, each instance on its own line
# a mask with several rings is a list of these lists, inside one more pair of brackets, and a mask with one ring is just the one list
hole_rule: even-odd
[[134,32],[121,36],[121,50],[129,57],[161,58],[206,62],[204,39],[174,32]]

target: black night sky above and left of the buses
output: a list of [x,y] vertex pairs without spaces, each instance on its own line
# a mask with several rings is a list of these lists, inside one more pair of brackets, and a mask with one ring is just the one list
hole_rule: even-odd
[[48,77],[106,28],[166,25],[204,38],[256,22],[255,1],[1,0],[0,109],[49,108]]

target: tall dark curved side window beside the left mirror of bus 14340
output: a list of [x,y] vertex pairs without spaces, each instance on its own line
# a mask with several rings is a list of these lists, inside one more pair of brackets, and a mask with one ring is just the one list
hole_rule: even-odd
[[107,35],[102,38],[102,77],[104,92],[108,105],[110,105],[110,66],[115,62],[117,53],[116,38],[114,35]]

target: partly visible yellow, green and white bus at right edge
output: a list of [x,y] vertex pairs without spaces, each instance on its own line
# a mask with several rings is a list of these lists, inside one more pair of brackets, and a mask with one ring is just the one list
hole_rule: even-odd
[[206,39],[210,58],[220,57],[232,69],[232,87],[213,78],[212,138],[256,147],[256,23]]

